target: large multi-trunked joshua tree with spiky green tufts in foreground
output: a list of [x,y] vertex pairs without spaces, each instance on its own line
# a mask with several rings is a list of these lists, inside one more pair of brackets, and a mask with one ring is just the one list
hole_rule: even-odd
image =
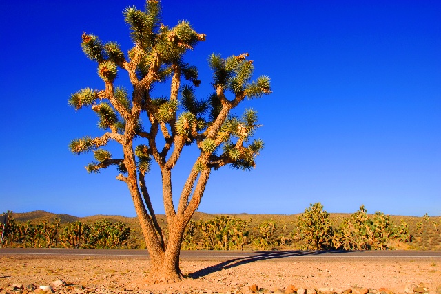
[[[97,36],[83,33],[81,47],[88,58],[98,63],[104,88],[81,89],[70,96],[69,104],[76,110],[91,106],[105,133],[101,137],[74,139],[70,149],[74,154],[94,152],[96,161],[86,166],[88,172],[116,166],[120,172],[116,179],[127,184],[143,229],[152,278],[174,282],[182,279],[179,251],[185,227],[201,202],[210,173],[227,165],[250,170],[263,148],[263,142],[254,139],[259,126],[256,111],[247,109],[243,117],[236,117],[231,111],[245,98],[271,93],[271,87],[267,76],[251,80],[254,66],[252,60],[247,60],[249,54],[225,59],[212,54],[208,63],[213,71],[214,91],[207,100],[198,100],[194,94],[194,87],[201,82],[198,71],[185,63],[183,56],[205,41],[205,34],[195,32],[186,21],[175,27],[163,25],[161,6],[155,0],[148,0],[144,11],[126,8],[123,14],[134,42],[127,56],[117,43],[103,44]],[[131,95],[115,86],[119,71],[127,72],[133,87]],[[185,80],[190,84],[184,84]],[[168,97],[152,91],[154,84],[162,82],[170,82]],[[147,120],[141,122],[141,114]],[[163,139],[156,141],[159,136]],[[111,140],[121,144],[121,158],[102,149]],[[165,143],[158,146],[159,142]],[[172,170],[183,148],[189,145],[196,146],[200,153],[175,205]],[[168,236],[158,225],[147,190],[145,176],[152,162],[161,170]]]

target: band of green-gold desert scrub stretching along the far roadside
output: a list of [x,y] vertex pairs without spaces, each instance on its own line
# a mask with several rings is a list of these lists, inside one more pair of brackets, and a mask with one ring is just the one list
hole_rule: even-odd
[[[139,221],[123,216],[77,218],[46,212],[9,213],[3,247],[145,249]],[[165,216],[158,215],[167,238]],[[297,215],[196,212],[183,250],[441,250],[441,217],[329,214],[314,203]],[[3,229],[3,228],[2,228]]]

